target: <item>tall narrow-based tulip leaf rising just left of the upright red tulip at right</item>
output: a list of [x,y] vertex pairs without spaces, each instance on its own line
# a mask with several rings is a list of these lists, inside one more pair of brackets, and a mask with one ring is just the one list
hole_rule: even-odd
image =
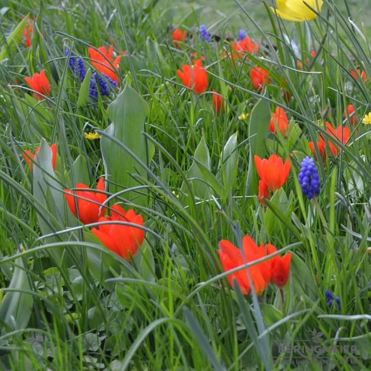
[[[265,89],[264,97],[268,97],[268,91]],[[250,138],[250,156],[249,167],[247,171],[245,195],[251,196],[256,193],[258,179],[254,165],[254,155],[264,158],[266,155],[265,140],[268,137],[269,124],[271,122],[271,108],[267,99],[261,98],[255,104],[250,115],[249,138]]]

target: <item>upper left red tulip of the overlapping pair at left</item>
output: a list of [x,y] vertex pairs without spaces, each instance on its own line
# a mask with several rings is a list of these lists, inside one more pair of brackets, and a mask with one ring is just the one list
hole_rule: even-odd
[[76,200],[81,222],[84,224],[97,223],[99,218],[105,213],[104,207],[99,211],[101,204],[107,199],[107,196],[101,193],[105,191],[104,179],[100,178],[96,185],[96,190],[101,192],[94,192],[83,183],[78,183],[76,188],[86,188],[86,190],[77,190],[74,193],[72,190],[65,189],[66,193],[64,194],[73,215],[77,218]]

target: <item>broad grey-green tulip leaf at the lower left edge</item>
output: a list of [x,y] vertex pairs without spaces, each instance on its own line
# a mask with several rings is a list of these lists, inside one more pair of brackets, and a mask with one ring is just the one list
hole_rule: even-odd
[[32,294],[21,291],[31,289],[23,258],[15,260],[13,277],[8,288],[15,291],[6,292],[1,301],[1,322],[13,330],[26,328],[31,317],[33,300]]

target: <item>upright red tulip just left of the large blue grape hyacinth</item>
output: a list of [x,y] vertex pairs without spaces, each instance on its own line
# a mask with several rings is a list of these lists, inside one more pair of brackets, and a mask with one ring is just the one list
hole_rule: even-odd
[[276,154],[273,154],[268,160],[262,160],[259,156],[255,155],[254,160],[260,179],[273,192],[286,183],[291,169],[291,164],[287,158],[285,163],[283,163],[282,159]]

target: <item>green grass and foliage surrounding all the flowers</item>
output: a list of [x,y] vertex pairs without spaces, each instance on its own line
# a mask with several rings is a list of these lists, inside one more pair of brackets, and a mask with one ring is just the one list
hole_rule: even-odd
[[[328,347],[335,338],[349,346],[362,340],[362,367],[370,369],[371,137],[362,124],[371,111],[370,26],[361,35],[344,15],[347,4],[361,28],[366,4],[338,1],[337,11],[325,3],[305,25],[276,19],[261,1],[246,13],[232,1],[8,2],[0,23],[0,370],[276,370],[282,343]],[[191,11],[202,4],[203,13]],[[28,13],[36,21],[30,48],[24,24],[17,29]],[[172,43],[175,24],[187,31],[181,48]],[[200,40],[201,24],[221,41]],[[260,51],[232,63],[223,52],[239,28]],[[317,50],[304,71],[283,34],[303,65]],[[65,49],[94,73],[88,47],[110,44],[130,55],[121,58],[119,87],[95,99]],[[205,56],[208,89],[200,95],[177,74],[190,52]],[[251,82],[255,65],[269,71],[262,93]],[[365,82],[350,74],[356,68]],[[38,102],[25,77],[43,69],[51,91]],[[220,114],[212,90],[224,98]],[[351,103],[357,126],[343,113]],[[287,138],[268,130],[278,105],[289,118]],[[333,139],[325,121],[349,127],[349,142]],[[321,192],[308,200],[297,175],[320,135],[338,153],[316,162]],[[22,152],[39,146],[31,170]],[[266,209],[256,154],[291,163]],[[145,239],[131,260],[100,243],[91,232],[97,225],[85,226],[65,201],[66,188],[95,189],[101,176],[108,215],[120,203],[143,217]],[[261,296],[232,288],[218,244],[241,248],[245,235],[292,253],[284,303],[273,283]],[[326,290],[340,308],[328,305]],[[326,355],[329,366],[309,357],[297,369],[362,369],[354,355]]]

